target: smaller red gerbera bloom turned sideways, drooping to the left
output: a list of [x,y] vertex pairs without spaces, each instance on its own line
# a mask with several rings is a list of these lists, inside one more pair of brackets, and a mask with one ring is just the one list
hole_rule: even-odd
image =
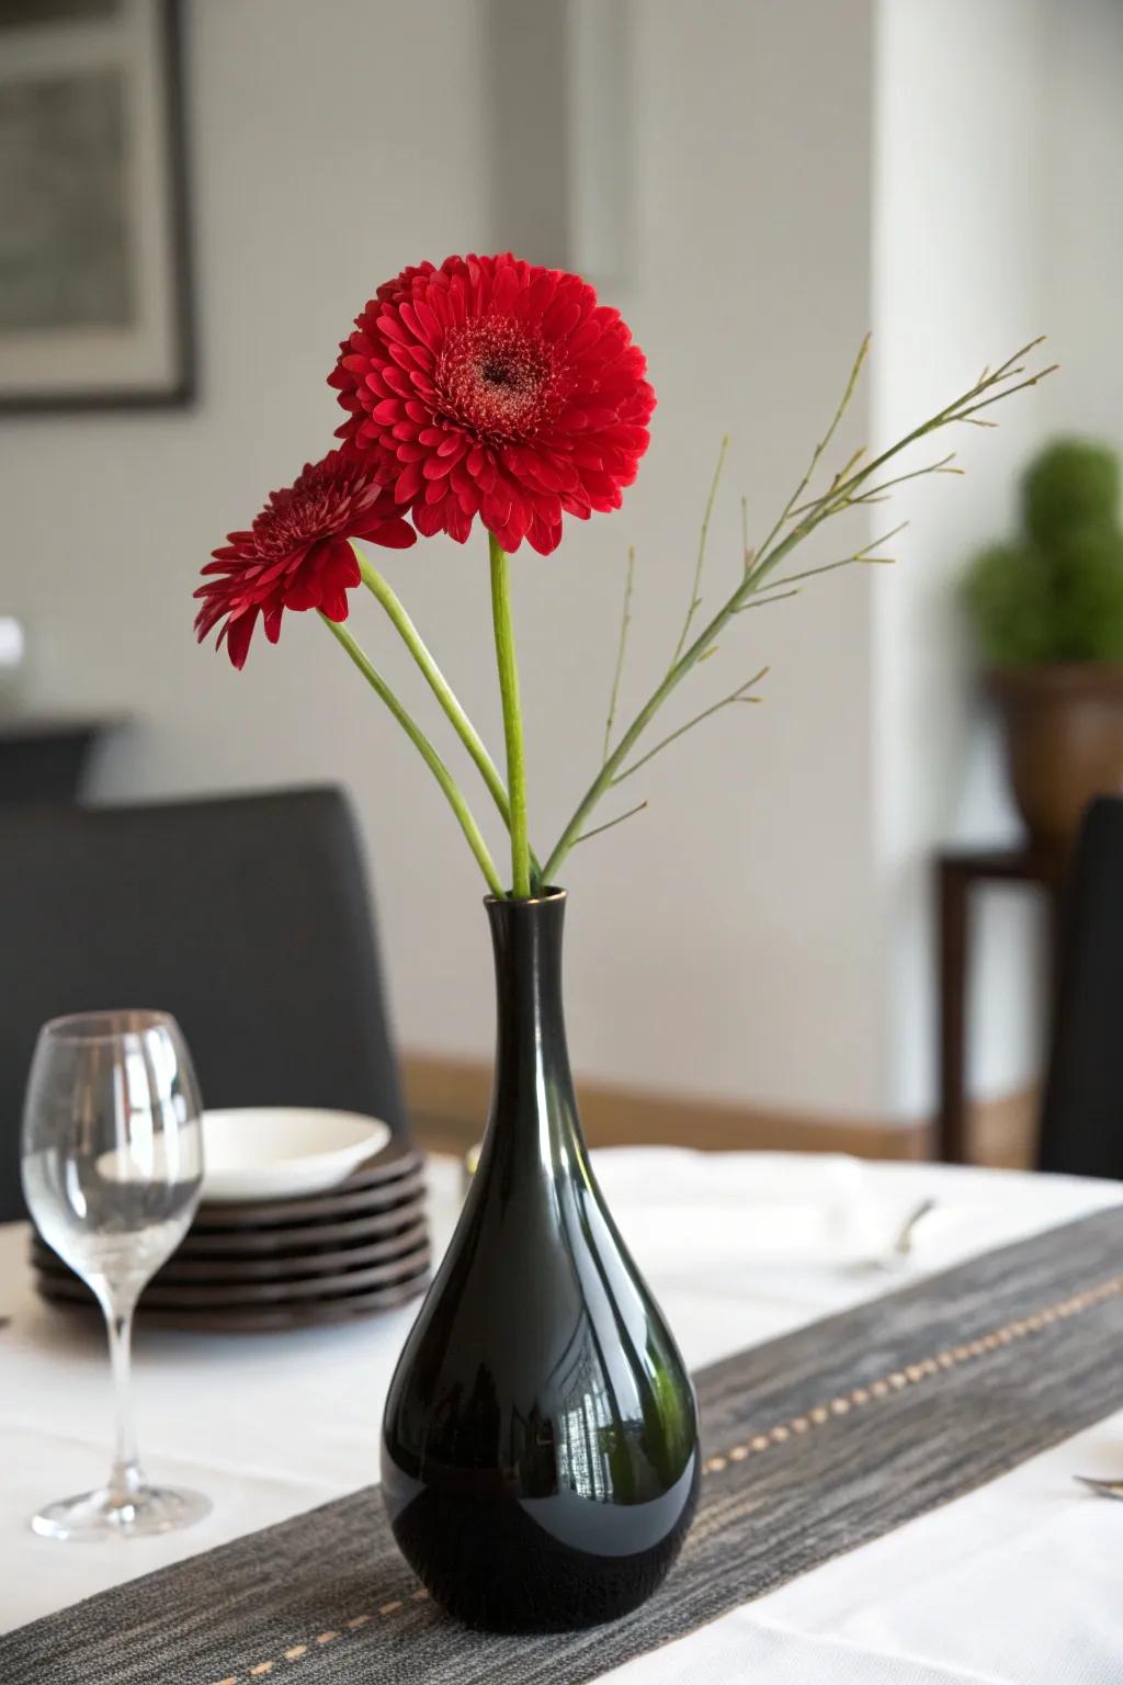
[[389,549],[407,549],[418,534],[401,519],[394,494],[340,450],[323,462],[306,462],[295,485],[269,492],[269,502],[249,532],[229,532],[202,570],[195,617],[199,642],[222,622],[217,647],[244,667],[249,640],[264,617],[264,635],[276,644],[286,608],[320,608],[328,620],[347,620],[347,591],[360,583],[350,538]]

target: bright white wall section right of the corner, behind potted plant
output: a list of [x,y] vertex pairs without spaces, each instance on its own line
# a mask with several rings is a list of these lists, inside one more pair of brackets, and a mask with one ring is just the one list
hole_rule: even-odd
[[[881,0],[876,86],[877,433],[897,435],[948,382],[966,388],[1035,334],[1061,361],[1047,386],[998,411],[997,433],[951,440],[966,477],[916,495],[902,566],[876,581],[884,1097],[891,1114],[923,1117],[934,1100],[931,851],[1020,834],[958,578],[1012,526],[1020,470],[1046,436],[1123,443],[1123,8]],[[1025,891],[977,903],[970,1067],[983,1095],[1041,1065],[1041,920]]]

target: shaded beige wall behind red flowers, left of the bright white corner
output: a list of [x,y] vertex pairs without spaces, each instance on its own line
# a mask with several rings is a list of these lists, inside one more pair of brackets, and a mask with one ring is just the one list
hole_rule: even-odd
[[[323,379],[369,290],[406,261],[505,241],[488,189],[492,12],[185,12],[202,399],[184,415],[3,425],[3,603],[30,627],[44,706],[136,718],[98,795],[345,780],[402,1041],[487,1055],[482,883],[423,768],[311,617],[236,676],[195,650],[190,590],[226,529],[327,447],[338,416]],[[737,492],[759,527],[869,322],[865,0],[643,0],[633,27],[643,162],[636,265],[616,302],[662,404],[625,511],[574,526],[547,561],[519,558],[540,842],[599,752],[628,543],[641,558],[635,704],[677,637],[721,433],[734,447],[714,591],[737,570]],[[498,740],[483,558],[482,538],[466,553],[424,543],[392,575]],[[357,623],[424,706],[372,603]],[[574,1055],[606,1078],[865,1114],[879,1073],[862,581],[748,617],[677,718],[763,661],[768,703],[727,711],[636,778],[650,812],[566,871]]]

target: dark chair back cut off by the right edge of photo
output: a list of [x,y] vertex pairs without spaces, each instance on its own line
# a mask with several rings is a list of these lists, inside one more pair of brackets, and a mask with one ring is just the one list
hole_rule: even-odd
[[1123,797],[1084,816],[1061,944],[1037,1164],[1123,1178]]

